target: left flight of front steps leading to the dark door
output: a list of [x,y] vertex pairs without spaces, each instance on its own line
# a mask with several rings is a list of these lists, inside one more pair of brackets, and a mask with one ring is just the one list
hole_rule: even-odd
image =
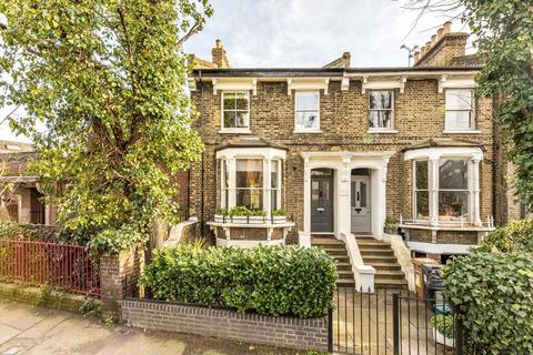
[[335,239],[333,235],[312,235],[311,245],[322,247],[328,255],[335,261],[338,275],[336,285],[339,287],[355,286],[352,264],[350,264],[350,257],[348,256],[344,242]]

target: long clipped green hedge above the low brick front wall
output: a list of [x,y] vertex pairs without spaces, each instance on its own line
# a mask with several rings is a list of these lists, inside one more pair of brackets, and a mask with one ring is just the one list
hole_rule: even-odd
[[155,251],[140,284],[159,300],[318,317],[333,307],[336,273],[332,258],[318,248],[185,244]]

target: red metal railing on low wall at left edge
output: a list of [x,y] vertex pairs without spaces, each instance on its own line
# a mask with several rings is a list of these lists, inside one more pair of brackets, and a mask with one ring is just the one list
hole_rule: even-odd
[[100,296],[99,267],[83,245],[0,240],[0,278]]

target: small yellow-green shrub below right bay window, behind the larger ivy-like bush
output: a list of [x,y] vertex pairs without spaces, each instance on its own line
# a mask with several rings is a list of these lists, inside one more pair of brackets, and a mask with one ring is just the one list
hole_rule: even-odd
[[476,251],[485,253],[494,250],[503,253],[533,253],[533,220],[509,222],[505,226],[491,232],[476,248]]

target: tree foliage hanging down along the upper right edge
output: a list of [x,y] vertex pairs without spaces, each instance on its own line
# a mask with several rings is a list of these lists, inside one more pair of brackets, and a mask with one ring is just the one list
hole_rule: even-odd
[[499,122],[516,165],[516,190],[533,207],[533,11],[524,0],[460,0],[484,68],[482,94],[500,97]]

